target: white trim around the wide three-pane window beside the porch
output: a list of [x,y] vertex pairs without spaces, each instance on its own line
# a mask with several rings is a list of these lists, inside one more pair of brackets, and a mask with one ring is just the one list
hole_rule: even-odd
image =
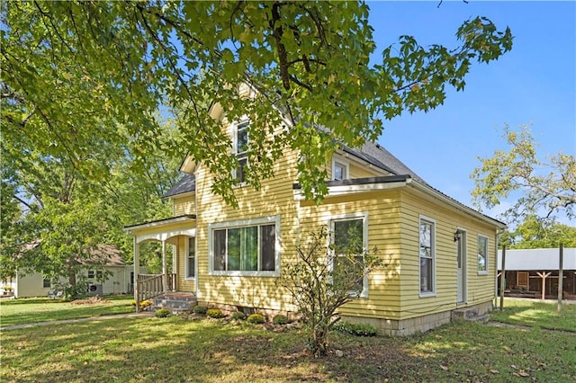
[[[274,272],[229,272],[214,270],[214,230],[235,227],[253,227],[275,224],[275,271]],[[238,277],[279,277],[280,276],[280,216],[238,219],[236,221],[211,223],[208,225],[208,275],[238,276]]]

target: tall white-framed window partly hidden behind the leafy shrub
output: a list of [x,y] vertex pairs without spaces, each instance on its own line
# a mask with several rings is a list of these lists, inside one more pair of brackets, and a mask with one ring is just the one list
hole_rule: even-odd
[[347,272],[354,275],[355,284],[349,293],[362,298],[368,296],[368,276],[364,270],[366,222],[365,215],[344,216],[330,220],[332,243],[336,255],[333,267],[345,268]]

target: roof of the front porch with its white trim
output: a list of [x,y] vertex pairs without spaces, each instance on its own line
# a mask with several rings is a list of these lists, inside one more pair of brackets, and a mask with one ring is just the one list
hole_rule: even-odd
[[125,232],[134,236],[136,243],[145,241],[167,241],[174,236],[196,236],[196,216],[184,216],[157,219],[129,227]]

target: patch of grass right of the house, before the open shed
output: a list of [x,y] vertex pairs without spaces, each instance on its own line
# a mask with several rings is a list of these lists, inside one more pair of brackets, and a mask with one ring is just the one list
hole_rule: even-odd
[[560,313],[557,307],[556,303],[533,299],[504,298],[504,309],[492,311],[491,320],[576,333],[576,304],[563,304]]

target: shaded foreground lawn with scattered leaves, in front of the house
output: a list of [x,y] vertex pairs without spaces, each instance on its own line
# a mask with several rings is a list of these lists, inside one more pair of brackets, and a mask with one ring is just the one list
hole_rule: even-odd
[[574,381],[576,324],[565,330],[455,323],[407,338],[334,333],[333,352],[312,359],[298,328],[94,320],[3,331],[0,381]]

